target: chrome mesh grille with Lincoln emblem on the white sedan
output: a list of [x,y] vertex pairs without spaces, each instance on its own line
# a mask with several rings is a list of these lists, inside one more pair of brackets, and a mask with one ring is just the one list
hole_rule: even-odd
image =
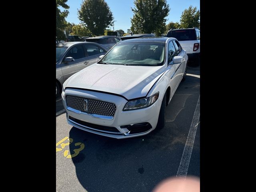
[[[84,100],[87,100],[87,111],[85,110],[86,108]],[[116,105],[114,103],[86,97],[67,95],[66,104],[67,107],[71,107],[88,114],[114,117],[116,112]]]

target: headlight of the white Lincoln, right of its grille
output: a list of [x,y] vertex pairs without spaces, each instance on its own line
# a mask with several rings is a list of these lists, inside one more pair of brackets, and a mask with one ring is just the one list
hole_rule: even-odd
[[159,96],[159,92],[157,92],[154,95],[147,97],[147,98],[129,101],[124,106],[123,111],[146,108],[146,107],[152,105],[154,102],[156,102],[156,100],[158,99],[158,96]]

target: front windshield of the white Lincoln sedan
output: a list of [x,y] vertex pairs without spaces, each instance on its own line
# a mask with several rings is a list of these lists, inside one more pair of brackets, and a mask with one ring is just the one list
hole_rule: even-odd
[[155,42],[117,44],[99,63],[134,66],[161,66],[164,64],[164,47],[164,43]]

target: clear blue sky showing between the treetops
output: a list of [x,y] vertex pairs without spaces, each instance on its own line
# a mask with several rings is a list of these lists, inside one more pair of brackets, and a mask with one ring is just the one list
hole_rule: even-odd
[[[134,0],[105,0],[108,4],[113,16],[114,16],[114,30],[122,29],[127,32],[127,29],[131,27],[131,18],[133,12],[131,8],[134,8]],[[67,22],[79,24],[77,10],[80,9],[82,0],[68,0],[66,4],[70,6],[69,14],[66,18]],[[197,7],[200,10],[200,0],[167,0],[170,6],[169,15],[166,17],[166,24],[169,22],[180,22],[180,16],[184,9],[187,9],[190,5]],[[63,8],[60,8],[63,10]],[[113,30],[113,26],[111,27]]]

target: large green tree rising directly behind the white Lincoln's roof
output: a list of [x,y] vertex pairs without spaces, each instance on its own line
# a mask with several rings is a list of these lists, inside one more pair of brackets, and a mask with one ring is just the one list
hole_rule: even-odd
[[160,36],[165,32],[166,16],[170,12],[166,0],[134,0],[134,5],[131,18],[133,33],[155,33]]

